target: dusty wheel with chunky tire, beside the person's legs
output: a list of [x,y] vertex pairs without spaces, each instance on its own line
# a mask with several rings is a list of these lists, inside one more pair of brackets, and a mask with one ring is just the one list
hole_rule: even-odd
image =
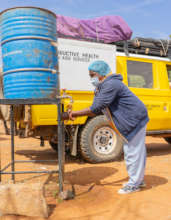
[[80,134],[80,153],[91,163],[114,161],[123,152],[123,141],[104,115],[90,119]]

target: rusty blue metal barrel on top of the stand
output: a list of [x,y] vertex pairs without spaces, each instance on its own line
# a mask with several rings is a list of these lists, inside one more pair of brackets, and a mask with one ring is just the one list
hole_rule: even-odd
[[24,7],[0,15],[4,97],[50,98],[57,92],[56,16]]

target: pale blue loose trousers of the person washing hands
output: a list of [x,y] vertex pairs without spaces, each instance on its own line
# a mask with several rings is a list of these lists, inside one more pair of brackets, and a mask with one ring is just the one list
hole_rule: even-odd
[[129,186],[139,186],[144,180],[146,165],[145,147],[146,126],[143,127],[131,141],[124,144],[124,159],[129,175]]

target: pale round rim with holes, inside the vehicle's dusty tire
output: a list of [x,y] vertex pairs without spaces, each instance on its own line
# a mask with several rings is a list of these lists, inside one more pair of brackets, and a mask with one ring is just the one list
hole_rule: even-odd
[[94,149],[100,154],[110,154],[116,147],[117,136],[110,127],[101,127],[94,133]]

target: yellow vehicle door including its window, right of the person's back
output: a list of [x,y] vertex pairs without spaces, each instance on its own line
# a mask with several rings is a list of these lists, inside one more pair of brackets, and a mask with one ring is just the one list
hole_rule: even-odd
[[[163,65],[163,66],[162,66]],[[146,105],[150,121],[148,131],[168,130],[170,93],[164,62],[125,57],[128,87]]]

